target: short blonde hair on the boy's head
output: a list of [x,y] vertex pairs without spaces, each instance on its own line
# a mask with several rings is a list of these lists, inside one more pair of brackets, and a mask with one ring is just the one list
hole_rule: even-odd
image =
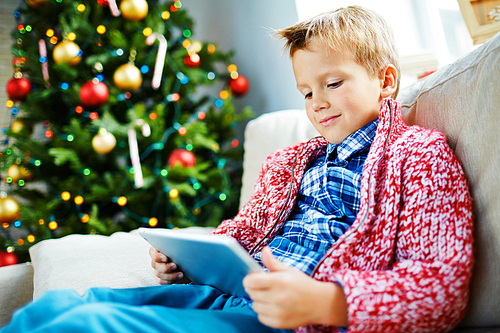
[[349,50],[354,60],[368,73],[379,76],[387,65],[397,70],[396,98],[399,90],[399,56],[391,27],[379,14],[360,6],[339,8],[299,22],[276,34],[286,41],[290,57],[297,50],[307,49],[311,41],[320,41],[334,51]]

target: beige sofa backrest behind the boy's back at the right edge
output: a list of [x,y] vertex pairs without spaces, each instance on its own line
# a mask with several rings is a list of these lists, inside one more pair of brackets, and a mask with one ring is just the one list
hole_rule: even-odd
[[462,325],[500,326],[500,34],[400,100],[407,123],[445,133],[474,199],[476,261]]

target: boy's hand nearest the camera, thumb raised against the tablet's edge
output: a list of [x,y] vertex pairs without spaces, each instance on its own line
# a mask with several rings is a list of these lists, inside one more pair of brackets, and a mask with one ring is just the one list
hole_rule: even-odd
[[274,328],[297,328],[307,324],[347,326],[347,304],[338,285],[314,280],[262,251],[270,273],[250,273],[243,280],[259,320]]

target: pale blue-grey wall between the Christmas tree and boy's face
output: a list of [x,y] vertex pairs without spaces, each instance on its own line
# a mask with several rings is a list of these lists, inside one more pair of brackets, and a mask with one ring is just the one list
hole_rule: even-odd
[[295,86],[291,61],[272,29],[297,22],[294,0],[184,0],[195,19],[194,38],[216,41],[219,48],[234,49],[238,71],[250,81],[249,93],[236,101],[250,105],[256,115],[288,108],[304,108]]

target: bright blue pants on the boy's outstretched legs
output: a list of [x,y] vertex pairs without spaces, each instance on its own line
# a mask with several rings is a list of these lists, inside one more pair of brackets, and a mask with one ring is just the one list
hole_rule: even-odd
[[247,300],[208,286],[93,288],[46,292],[18,310],[0,333],[22,332],[265,332]]

